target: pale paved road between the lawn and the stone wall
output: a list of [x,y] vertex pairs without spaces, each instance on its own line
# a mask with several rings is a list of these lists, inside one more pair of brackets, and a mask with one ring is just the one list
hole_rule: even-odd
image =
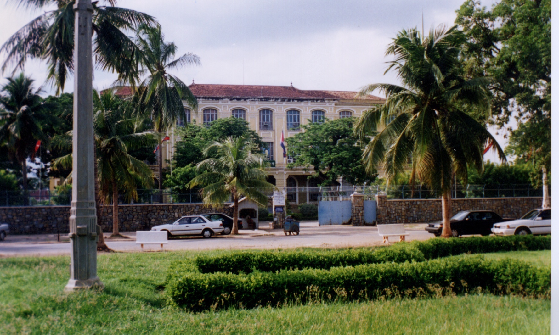
[[[424,230],[424,224],[406,225],[410,236],[406,240],[427,240],[433,237]],[[258,231],[240,231],[241,236],[215,236],[209,239],[186,237],[169,240],[165,250],[211,250],[211,249],[274,249],[294,247],[358,247],[382,244],[376,227],[323,226],[318,222],[301,223],[299,236],[285,236],[279,229],[260,229]],[[135,233],[126,233],[130,240],[110,241],[107,246],[116,251],[140,251],[135,243]],[[50,236],[7,236],[0,242],[0,256],[31,255],[68,255],[70,243],[55,242]],[[391,241],[397,241],[391,237]],[[159,250],[159,245],[145,245],[145,250]]]

